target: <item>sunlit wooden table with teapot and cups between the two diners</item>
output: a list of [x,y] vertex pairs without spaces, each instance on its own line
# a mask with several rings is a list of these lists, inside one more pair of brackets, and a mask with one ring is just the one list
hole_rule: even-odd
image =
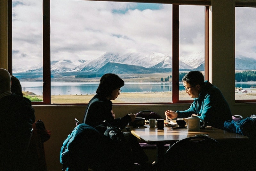
[[144,127],[131,128],[131,133],[147,144],[156,144],[158,171],[163,170],[162,166],[164,166],[165,144],[174,144],[181,139],[193,137],[197,134],[208,134],[210,138],[216,139],[217,141],[225,139],[248,139],[247,136],[209,126],[201,129],[200,131],[188,131],[187,129],[172,129],[168,126],[164,126],[163,130],[159,130],[156,127],[150,128],[149,125],[146,124]]

